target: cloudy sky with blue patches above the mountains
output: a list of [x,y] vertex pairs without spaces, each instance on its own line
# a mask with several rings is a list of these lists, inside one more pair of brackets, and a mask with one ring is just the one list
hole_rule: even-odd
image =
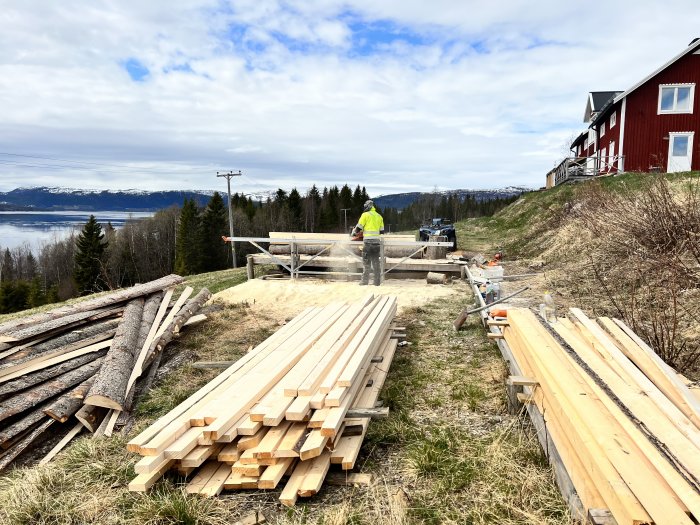
[[249,193],[537,187],[588,91],[700,36],[690,0],[490,4],[7,5],[0,190],[221,189],[216,172],[239,169]]

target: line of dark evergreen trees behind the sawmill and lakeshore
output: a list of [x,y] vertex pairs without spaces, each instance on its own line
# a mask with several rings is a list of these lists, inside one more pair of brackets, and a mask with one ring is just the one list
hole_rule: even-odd
[[[271,231],[349,232],[369,195],[347,184],[302,195],[278,189],[263,202],[231,196],[234,234],[267,237]],[[404,210],[379,210],[389,231],[415,231],[432,217],[460,220],[491,215],[514,198],[476,201],[456,195],[426,195]],[[38,255],[28,245],[0,250],[0,313],[15,312],[77,295],[147,282],[169,273],[191,275],[232,266],[228,210],[215,193],[203,208],[194,199],[153,217],[128,220],[119,230],[95,217],[82,230],[47,244]],[[252,246],[238,246],[242,265]]]

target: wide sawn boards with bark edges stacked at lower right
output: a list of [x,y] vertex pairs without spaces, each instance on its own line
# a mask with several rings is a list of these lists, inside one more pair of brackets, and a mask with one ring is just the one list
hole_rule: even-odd
[[510,308],[502,336],[584,509],[619,525],[700,518],[700,399],[628,326]]

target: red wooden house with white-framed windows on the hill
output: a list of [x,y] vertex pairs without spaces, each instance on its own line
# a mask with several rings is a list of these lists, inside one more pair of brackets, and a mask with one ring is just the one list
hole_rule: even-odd
[[623,171],[700,170],[700,39],[626,91],[589,93],[587,131],[573,158],[547,175],[566,180]]

